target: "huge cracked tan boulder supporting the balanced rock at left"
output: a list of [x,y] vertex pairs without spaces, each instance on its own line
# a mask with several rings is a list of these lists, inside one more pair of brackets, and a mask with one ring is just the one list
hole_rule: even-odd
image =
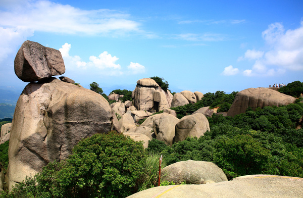
[[9,145],[9,188],[49,162],[66,159],[82,138],[111,129],[106,99],[54,77],[29,83],[16,105]]

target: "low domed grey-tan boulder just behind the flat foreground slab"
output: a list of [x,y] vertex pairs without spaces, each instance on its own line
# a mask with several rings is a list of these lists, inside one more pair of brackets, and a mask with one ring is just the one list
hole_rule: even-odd
[[216,164],[203,161],[181,161],[162,169],[162,180],[175,184],[208,184],[227,181],[227,177]]

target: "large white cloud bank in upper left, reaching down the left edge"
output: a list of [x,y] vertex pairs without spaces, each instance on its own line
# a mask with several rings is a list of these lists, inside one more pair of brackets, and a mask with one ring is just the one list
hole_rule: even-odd
[[142,33],[140,24],[129,18],[116,10],[81,10],[40,0],[0,0],[0,62],[35,31],[102,36]]

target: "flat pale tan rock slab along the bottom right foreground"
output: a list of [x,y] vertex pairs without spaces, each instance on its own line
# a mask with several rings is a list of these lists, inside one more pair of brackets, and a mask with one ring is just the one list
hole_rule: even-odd
[[303,197],[303,178],[275,175],[247,175],[232,181],[200,185],[170,185],[149,188],[129,198],[183,197]]

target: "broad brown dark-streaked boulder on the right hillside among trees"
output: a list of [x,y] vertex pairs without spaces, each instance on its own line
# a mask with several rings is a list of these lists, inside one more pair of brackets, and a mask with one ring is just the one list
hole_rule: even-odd
[[235,100],[227,112],[227,116],[234,117],[235,115],[245,113],[248,107],[256,110],[258,107],[288,105],[294,103],[294,101],[294,97],[270,88],[248,88],[236,94]]

